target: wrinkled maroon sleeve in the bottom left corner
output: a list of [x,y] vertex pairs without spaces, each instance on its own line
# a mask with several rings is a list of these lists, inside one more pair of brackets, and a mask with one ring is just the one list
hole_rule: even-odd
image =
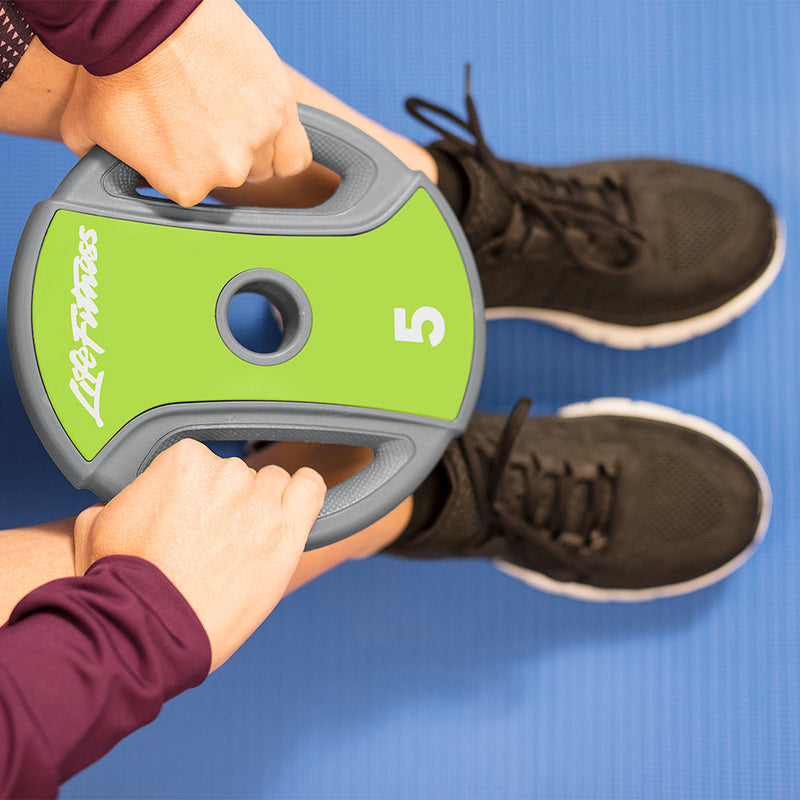
[[0,797],[55,797],[210,665],[200,621],[148,561],[110,556],[35,589],[0,628]]

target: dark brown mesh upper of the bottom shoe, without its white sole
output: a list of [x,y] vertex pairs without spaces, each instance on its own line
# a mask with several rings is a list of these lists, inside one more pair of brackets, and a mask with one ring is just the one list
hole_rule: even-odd
[[435,524],[387,552],[644,589],[709,573],[752,543],[760,484],[720,442],[632,416],[526,418],[528,405],[473,417],[444,456],[452,488]]

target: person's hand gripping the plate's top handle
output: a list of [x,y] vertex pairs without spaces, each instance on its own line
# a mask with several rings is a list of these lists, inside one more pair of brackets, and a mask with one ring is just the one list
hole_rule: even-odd
[[311,163],[286,68],[234,0],[203,0],[122,72],[79,68],[61,135],[79,156],[99,144],[184,206]]

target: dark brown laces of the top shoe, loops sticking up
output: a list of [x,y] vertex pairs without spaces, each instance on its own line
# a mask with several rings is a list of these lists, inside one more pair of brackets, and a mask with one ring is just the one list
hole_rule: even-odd
[[[635,263],[644,236],[627,221],[633,218],[633,208],[624,180],[606,175],[599,183],[589,184],[574,176],[558,177],[542,168],[520,172],[514,165],[497,158],[486,143],[472,99],[470,64],[466,66],[465,100],[466,119],[419,97],[409,97],[406,109],[419,122],[478,161],[511,201],[508,224],[481,245],[482,252],[519,257],[543,225],[584,269],[618,273]],[[439,125],[424,113],[426,111],[449,120],[466,131],[473,141]],[[593,248],[585,246],[594,244],[598,236],[609,234],[619,245],[617,258],[611,259],[608,253],[606,258],[598,258],[592,253]]]

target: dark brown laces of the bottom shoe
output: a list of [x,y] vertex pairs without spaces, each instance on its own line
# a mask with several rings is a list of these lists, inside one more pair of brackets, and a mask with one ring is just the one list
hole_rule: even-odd
[[[551,560],[563,565],[565,550],[587,556],[607,548],[616,496],[615,469],[594,463],[576,470],[568,461],[561,462],[559,469],[544,469],[532,452],[512,459],[530,407],[527,397],[517,401],[496,445],[469,431],[459,440],[481,517],[470,546],[479,548],[500,535],[525,552],[539,545]],[[522,472],[521,501],[498,499],[509,469]],[[568,529],[568,517],[574,522],[576,511],[580,511],[580,522]]]

